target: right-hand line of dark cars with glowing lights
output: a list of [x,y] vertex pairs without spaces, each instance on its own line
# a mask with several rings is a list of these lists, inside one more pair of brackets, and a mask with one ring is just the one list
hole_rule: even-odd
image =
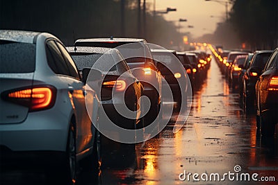
[[[252,53],[211,50],[231,87],[238,89],[240,107],[256,115],[257,131],[274,136],[278,123],[278,49]],[[228,62],[231,53],[236,57]],[[227,57],[222,58],[224,54]]]

